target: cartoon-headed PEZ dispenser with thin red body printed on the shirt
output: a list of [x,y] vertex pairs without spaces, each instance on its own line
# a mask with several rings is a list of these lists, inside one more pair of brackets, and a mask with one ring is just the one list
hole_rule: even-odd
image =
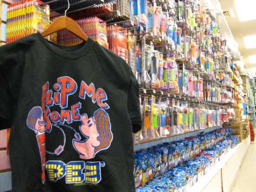
[[46,146],[45,146],[45,122],[42,114],[42,109],[40,106],[34,106],[29,112],[27,117],[27,126],[29,129],[33,130],[36,134],[36,140],[39,147],[39,153],[41,157],[41,166],[42,166],[42,173],[41,179],[42,183],[45,182],[45,169],[44,164],[46,162]]

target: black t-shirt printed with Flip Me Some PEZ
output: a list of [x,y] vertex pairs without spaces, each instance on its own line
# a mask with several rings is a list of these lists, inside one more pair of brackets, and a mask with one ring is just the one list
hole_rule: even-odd
[[0,127],[11,127],[12,191],[135,191],[138,83],[89,38],[59,46],[39,33],[0,47]]

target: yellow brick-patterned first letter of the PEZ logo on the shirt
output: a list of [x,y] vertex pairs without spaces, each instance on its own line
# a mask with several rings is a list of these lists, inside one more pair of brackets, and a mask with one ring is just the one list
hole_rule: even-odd
[[47,161],[45,163],[49,181],[56,182],[66,175],[66,165],[62,161]]

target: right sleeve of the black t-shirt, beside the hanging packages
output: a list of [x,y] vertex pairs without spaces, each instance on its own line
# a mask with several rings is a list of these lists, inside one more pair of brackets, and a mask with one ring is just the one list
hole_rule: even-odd
[[142,120],[140,113],[139,84],[133,73],[131,74],[130,89],[128,95],[128,111],[133,124],[133,132],[137,133],[141,130]]

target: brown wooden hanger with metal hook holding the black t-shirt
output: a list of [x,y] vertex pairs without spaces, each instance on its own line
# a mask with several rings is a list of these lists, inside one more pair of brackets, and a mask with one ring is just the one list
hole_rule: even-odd
[[67,29],[68,31],[74,33],[74,35],[78,36],[82,40],[88,40],[89,37],[81,30],[79,25],[72,18],[66,16],[69,7],[70,4],[68,1],[68,9],[65,11],[65,16],[60,16],[54,19],[53,22],[41,33],[43,37],[46,37],[62,29]]

